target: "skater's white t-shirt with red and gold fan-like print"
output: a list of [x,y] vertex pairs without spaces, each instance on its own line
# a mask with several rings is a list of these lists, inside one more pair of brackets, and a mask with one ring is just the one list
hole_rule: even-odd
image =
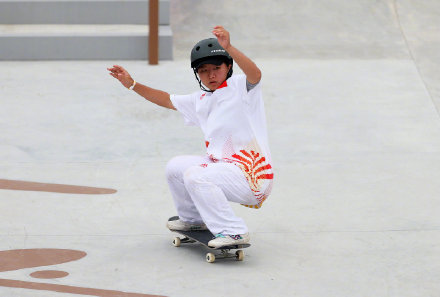
[[214,162],[240,167],[259,201],[249,207],[259,208],[273,183],[261,82],[248,92],[246,76],[234,75],[215,92],[171,95],[171,101],[186,125],[202,129]]

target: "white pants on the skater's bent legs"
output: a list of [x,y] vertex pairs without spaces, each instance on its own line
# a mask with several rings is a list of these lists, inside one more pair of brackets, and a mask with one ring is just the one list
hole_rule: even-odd
[[204,222],[213,234],[248,232],[229,201],[247,205],[258,201],[236,165],[214,163],[202,156],[178,156],[168,162],[166,176],[182,221]]

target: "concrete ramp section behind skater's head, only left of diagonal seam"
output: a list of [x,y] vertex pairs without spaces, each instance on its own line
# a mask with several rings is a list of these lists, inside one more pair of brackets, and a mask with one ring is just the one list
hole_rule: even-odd
[[221,23],[252,56],[409,57],[393,1],[173,1],[171,13],[178,53]]

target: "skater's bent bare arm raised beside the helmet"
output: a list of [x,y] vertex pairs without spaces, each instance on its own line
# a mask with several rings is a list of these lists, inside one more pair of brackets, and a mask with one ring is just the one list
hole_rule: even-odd
[[254,85],[259,83],[261,80],[260,69],[245,54],[232,46],[229,32],[222,26],[215,26],[212,33],[217,37],[218,43],[231,55],[241,70],[243,70],[247,81]]

